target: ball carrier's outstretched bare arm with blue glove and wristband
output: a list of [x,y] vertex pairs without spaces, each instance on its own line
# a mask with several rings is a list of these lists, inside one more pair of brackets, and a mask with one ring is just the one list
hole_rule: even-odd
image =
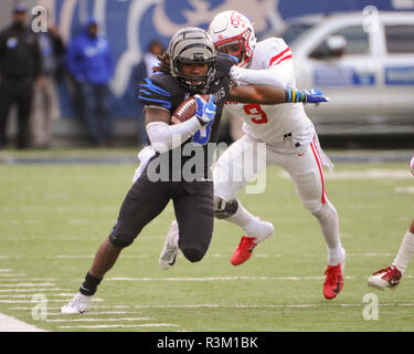
[[229,101],[240,103],[280,104],[280,103],[314,103],[329,102],[319,90],[279,88],[267,85],[233,86]]

